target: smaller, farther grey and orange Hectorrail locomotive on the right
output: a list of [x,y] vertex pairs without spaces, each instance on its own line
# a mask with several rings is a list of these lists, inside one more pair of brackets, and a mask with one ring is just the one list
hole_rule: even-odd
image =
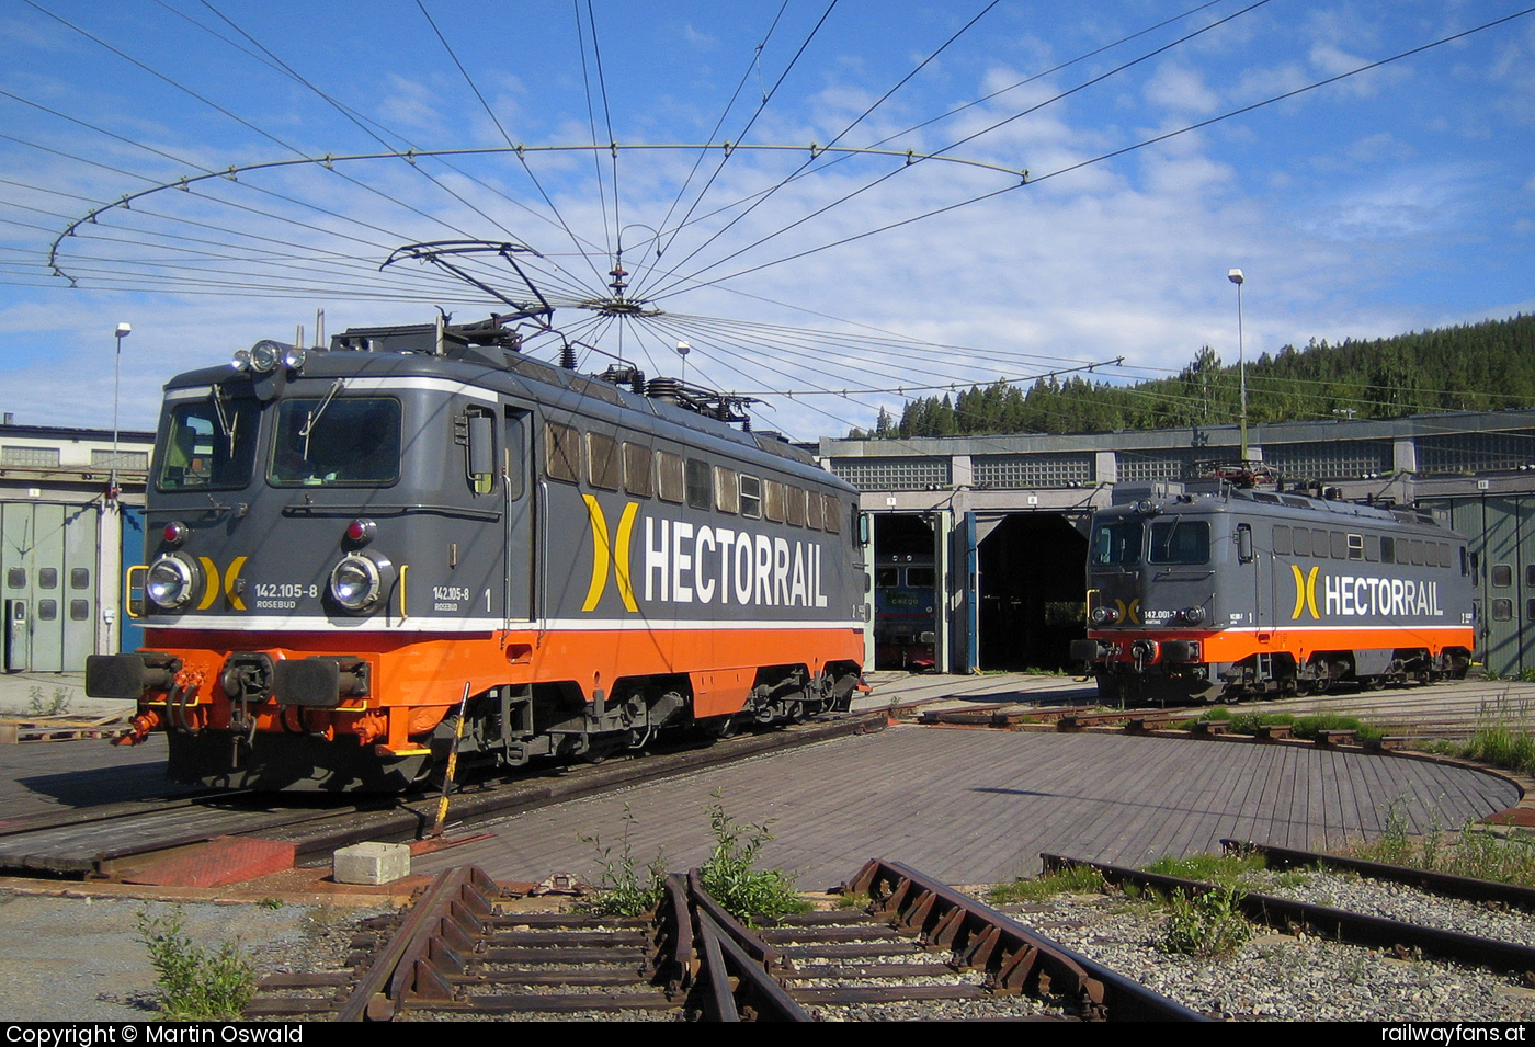
[[1111,702],[1183,703],[1461,677],[1464,539],[1431,516],[1236,490],[1094,516],[1088,639]]

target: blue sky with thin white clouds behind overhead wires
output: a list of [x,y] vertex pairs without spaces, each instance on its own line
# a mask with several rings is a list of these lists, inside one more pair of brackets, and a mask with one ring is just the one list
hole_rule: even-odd
[[[436,239],[528,249],[559,329],[530,352],[675,375],[686,341],[691,381],[800,439],[972,382],[1234,361],[1231,267],[1249,359],[1530,312],[1526,6],[5,0],[0,408],[107,425],[120,321],[149,427],[167,376],[319,309],[505,312],[379,270]],[[620,244],[639,315],[603,307]]]

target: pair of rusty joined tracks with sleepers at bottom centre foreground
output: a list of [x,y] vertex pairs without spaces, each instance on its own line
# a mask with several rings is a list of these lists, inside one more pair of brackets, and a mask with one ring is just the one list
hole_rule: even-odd
[[755,930],[694,872],[668,877],[649,920],[514,913],[484,874],[459,867],[356,973],[269,978],[246,1015],[1202,1021],[904,866],[870,861],[846,897],[857,904]]

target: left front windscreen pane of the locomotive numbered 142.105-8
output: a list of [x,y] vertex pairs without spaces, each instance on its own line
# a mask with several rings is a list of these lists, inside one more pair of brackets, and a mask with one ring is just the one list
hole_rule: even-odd
[[161,491],[206,491],[247,487],[256,464],[253,401],[178,404],[164,421],[160,450]]

